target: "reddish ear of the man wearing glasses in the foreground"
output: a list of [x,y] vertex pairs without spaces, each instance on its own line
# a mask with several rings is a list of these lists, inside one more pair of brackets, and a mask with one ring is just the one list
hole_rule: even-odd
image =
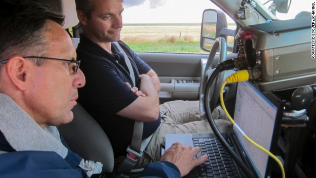
[[27,68],[27,61],[21,56],[13,56],[5,64],[6,73],[10,81],[16,88],[22,91],[28,87]]

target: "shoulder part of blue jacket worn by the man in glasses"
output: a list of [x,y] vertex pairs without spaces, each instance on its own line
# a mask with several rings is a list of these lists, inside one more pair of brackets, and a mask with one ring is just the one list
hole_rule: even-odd
[[84,174],[72,168],[55,152],[14,151],[0,154],[1,178],[87,178]]

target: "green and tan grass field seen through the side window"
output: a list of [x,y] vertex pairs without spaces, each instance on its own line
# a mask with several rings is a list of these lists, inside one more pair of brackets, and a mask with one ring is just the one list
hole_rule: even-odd
[[134,51],[207,53],[199,47],[199,24],[124,25],[121,40]]

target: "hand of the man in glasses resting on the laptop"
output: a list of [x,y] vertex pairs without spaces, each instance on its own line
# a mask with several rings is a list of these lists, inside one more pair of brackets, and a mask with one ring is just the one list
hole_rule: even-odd
[[172,146],[165,151],[161,156],[160,161],[169,161],[177,166],[181,177],[187,175],[194,167],[204,163],[207,155],[202,155],[199,158],[193,159],[200,151],[199,147],[192,148],[191,146],[182,146],[181,143],[173,143]]

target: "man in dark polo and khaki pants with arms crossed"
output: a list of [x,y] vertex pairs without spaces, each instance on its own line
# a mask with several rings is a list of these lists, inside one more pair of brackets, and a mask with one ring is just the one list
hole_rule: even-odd
[[[143,139],[153,134],[138,167],[159,160],[165,134],[212,133],[207,120],[199,115],[198,101],[159,105],[161,87],[156,72],[119,41],[123,26],[122,0],[76,0],[76,6],[83,30],[77,54],[87,81],[79,89],[79,102],[108,135],[116,158],[126,155],[135,121],[144,122]],[[135,84],[124,54],[113,42],[118,42],[125,51]],[[231,129],[227,120],[217,119],[216,123],[221,132]]]

